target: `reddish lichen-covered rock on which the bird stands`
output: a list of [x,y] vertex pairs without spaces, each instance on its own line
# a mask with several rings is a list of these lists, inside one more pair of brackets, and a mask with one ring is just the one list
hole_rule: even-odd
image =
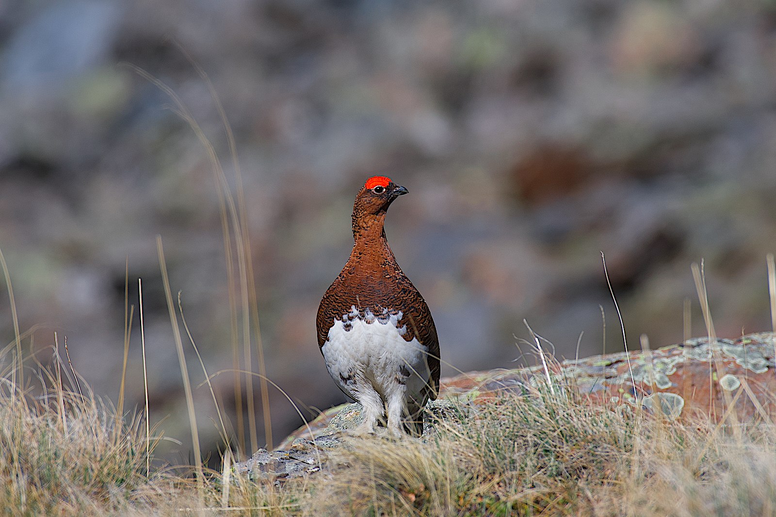
[[[610,353],[580,360],[514,370],[475,371],[442,379],[439,400],[428,407],[437,418],[449,419],[460,405],[477,405],[504,393],[527,395],[546,384],[571,386],[591,403],[643,404],[669,419],[708,415],[720,419],[729,404],[740,419],[774,412],[776,335],[758,333],[739,339],[688,339],[657,350]],[[563,381],[563,382],[561,382]],[[358,404],[321,413],[292,433],[280,446],[298,439],[315,439],[358,425]],[[427,429],[429,429],[427,424]]]

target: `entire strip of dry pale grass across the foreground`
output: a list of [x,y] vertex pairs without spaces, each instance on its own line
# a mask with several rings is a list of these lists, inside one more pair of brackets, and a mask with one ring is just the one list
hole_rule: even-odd
[[68,389],[75,384],[66,371],[65,364],[40,370],[37,384],[45,388],[36,396],[2,377],[6,515],[776,512],[772,426],[667,422],[628,403],[588,405],[564,381],[552,391],[461,405],[464,418],[437,422],[425,442],[350,437],[330,458],[331,473],[276,486],[229,468],[196,484],[193,468],[174,472],[153,458],[148,472],[145,422],[120,418],[82,379],[82,395]]

